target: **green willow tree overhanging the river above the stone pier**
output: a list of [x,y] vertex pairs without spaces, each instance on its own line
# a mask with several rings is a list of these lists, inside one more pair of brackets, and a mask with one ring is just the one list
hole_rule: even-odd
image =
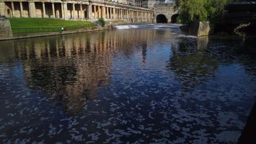
[[182,23],[190,21],[213,21],[225,13],[229,0],[175,0]]

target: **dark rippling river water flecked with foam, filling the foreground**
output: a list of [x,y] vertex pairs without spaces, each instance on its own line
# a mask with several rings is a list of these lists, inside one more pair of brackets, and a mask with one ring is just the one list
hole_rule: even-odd
[[0,143],[236,143],[243,40],[177,25],[0,41]]

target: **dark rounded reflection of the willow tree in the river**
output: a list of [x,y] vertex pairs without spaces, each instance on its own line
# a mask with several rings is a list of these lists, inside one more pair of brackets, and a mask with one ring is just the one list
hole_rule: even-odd
[[206,53],[200,43],[198,40],[197,49],[194,41],[186,40],[172,46],[172,56],[166,67],[167,70],[174,72],[176,79],[185,89],[205,84],[208,79],[214,77],[218,69],[218,59]]

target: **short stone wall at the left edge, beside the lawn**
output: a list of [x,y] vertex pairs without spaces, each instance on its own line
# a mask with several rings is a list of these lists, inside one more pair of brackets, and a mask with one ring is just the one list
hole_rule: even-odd
[[0,39],[12,37],[13,33],[11,32],[10,21],[5,17],[0,17]]

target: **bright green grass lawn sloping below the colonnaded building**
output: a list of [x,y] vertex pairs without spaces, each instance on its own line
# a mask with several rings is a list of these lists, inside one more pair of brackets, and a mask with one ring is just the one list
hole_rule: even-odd
[[[56,32],[62,31],[61,27],[68,27],[69,29],[83,28],[79,25],[92,24],[89,21],[65,21],[49,18],[26,18],[26,17],[12,17],[10,20],[13,34],[17,33],[39,33],[39,32]],[[71,27],[77,26],[77,27]],[[31,28],[31,29],[14,29],[14,28]],[[33,29],[32,29],[33,28]]]

